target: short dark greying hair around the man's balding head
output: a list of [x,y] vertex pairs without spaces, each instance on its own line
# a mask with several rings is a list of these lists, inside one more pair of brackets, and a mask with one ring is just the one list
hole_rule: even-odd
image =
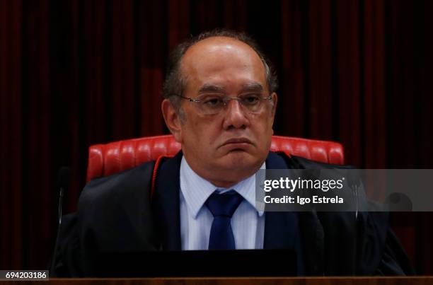
[[241,41],[246,45],[250,46],[260,57],[263,66],[265,66],[265,76],[267,81],[267,88],[270,93],[273,93],[278,88],[277,74],[272,68],[272,64],[265,57],[265,54],[258,47],[257,42],[246,33],[234,32],[231,30],[217,29],[209,32],[201,33],[196,37],[190,38],[185,42],[180,43],[170,55],[168,62],[168,69],[166,73],[166,80],[163,83],[163,97],[170,100],[171,104],[175,107],[176,112],[180,114],[182,119],[183,113],[180,110],[180,100],[178,95],[183,95],[183,91],[186,86],[185,74],[182,74],[180,70],[180,62],[182,61],[185,52],[195,43],[201,40],[207,39],[208,37],[231,37],[234,40]]

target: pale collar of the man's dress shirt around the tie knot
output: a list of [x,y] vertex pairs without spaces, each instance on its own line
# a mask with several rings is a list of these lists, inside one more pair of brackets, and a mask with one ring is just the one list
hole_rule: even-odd
[[[263,162],[260,169],[266,169],[265,162]],[[255,174],[230,188],[219,188],[195,173],[194,170],[190,168],[190,165],[188,165],[185,156],[183,156],[180,162],[180,191],[183,194],[185,203],[193,219],[197,218],[197,214],[200,209],[202,209],[207,198],[209,198],[215,190],[221,193],[235,190],[258,211],[259,216],[263,215],[263,209],[260,209],[255,202]]]

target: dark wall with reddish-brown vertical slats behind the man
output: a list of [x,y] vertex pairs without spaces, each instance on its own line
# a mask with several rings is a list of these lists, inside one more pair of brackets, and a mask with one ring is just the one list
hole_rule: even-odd
[[[275,134],[340,141],[362,168],[433,168],[432,13],[430,0],[0,0],[0,268],[46,266],[60,166],[74,211],[88,146],[167,133],[168,52],[203,30],[245,30],[275,63]],[[432,218],[392,218],[419,274],[433,274]]]

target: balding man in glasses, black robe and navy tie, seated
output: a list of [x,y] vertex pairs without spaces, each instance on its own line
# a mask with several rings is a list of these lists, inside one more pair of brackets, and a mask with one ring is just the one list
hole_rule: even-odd
[[54,272],[91,275],[103,252],[265,248],[294,250],[299,274],[411,273],[383,214],[256,209],[260,168],[337,166],[270,153],[277,80],[253,40],[204,33],[171,59],[161,109],[182,151],[89,182]]

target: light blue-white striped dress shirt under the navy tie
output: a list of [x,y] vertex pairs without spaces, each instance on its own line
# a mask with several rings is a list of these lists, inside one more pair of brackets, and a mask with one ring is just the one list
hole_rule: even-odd
[[[265,163],[260,169],[265,169]],[[243,201],[231,218],[236,249],[262,249],[265,214],[255,207],[255,175],[228,189],[215,187],[188,165],[180,163],[180,240],[182,250],[207,250],[214,217],[204,202],[214,192],[235,190]]]

